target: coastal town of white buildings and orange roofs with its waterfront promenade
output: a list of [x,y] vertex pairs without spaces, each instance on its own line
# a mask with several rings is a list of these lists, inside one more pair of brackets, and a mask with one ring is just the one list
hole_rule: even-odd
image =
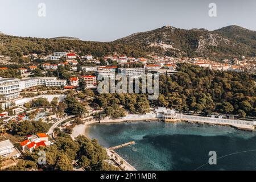
[[[109,55],[94,57],[79,55],[75,52],[53,52],[43,56],[35,53],[24,56],[31,59],[24,67],[7,64],[0,68],[1,75],[15,77],[0,78],[1,96],[1,169],[18,164],[20,157],[36,148],[51,146],[61,133],[71,135],[75,140],[85,134],[86,125],[92,123],[123,121],[166,121],[191,123],[208,123],[229,125],[242,130],[254,130],[253,119],[242,121],[229,115],[177,114],[175,110],[165,107],[151,107],[151,112],[141,115],[125,114],[119,117],[99,116],[102,108],[93,107],[94,93],[97,91],[97,77],[114,78],[115,74],[139,77],[145,73],[175,75],[179,64],[188,64],[213,71],[256,73],[256,58],[241,57],[232,60],[211,61],[203,57],[129,57],[126,55]],[[73,97],[72,97],[73,96]],[[74,99],[76,98],[76,99]],[[76,106],[75,106],[76,105]],[[68,108],[67,108],[68,107]],[[155,110],[154,110],[155,109]],[[173,108],[175,109],[175,108]],[[150,111],[150,110],[149,110]],[[216,117],[217,116],[217,117]],[[38,126],[29,131],[26,125]],[[40,124],[37,124],[39,123]],[[22,125],[21,125],[22,124]],[[20,125],[19,127],[17,127]],[[42,125],[42,126],[41,126]],[[24,127],[22,129],[22,127]],[[18,130],[18,131],[17,131]],[[23,130],[27,130],[23,131]],[[31,133],[35,131],[35,133]],[[44,133],[39,133],[43,132]],[[17,133],[18,132],[18,133]],[[38,133],[36,133],[38,132]],[[24,137],[17,137],[16,134]],[[135,170],[114,150],[106,149],[109,164],[120,170]],[[74,170],[85,170],[78,160],[73,160]],[[28,170],[37,170],[30,167]]]

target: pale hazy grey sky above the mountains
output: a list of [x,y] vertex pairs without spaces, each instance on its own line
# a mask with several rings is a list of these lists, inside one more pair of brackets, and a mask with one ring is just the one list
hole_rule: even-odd
[[[208,15],[209,3],[217,17]],[[236,24],[256,31],[256,0],[0,0],[0,31],[9,35],[112,41],[165,25],[215,30]],[[46,17],[38,16],[39,3]]]

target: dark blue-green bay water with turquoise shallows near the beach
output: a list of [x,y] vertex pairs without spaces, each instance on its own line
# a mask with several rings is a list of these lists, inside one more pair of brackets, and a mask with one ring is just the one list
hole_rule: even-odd
[[[96,124],[88,133],[104,147],[134,140],[134,145],[116,151],[138,170],[256,170],[254,132],[189,123],[133,122]],[[217,165],[208,164],[209,151],[216,151]]]

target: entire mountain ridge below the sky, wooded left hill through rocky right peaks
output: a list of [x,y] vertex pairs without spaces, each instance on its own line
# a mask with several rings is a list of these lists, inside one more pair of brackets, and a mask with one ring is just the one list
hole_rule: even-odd
[[58,51],[75,51],[102,57],[118,53],[127,56],[209,57],[214,60],[256,55],[256,31],[226,26],[209,31],[205,28],[185,30],[163,26],[137,32],[112,42],[77,40],[73,37],[53,39],[23,38],[0,34],[0,55],[19,60],[29,53],[48,55]]

